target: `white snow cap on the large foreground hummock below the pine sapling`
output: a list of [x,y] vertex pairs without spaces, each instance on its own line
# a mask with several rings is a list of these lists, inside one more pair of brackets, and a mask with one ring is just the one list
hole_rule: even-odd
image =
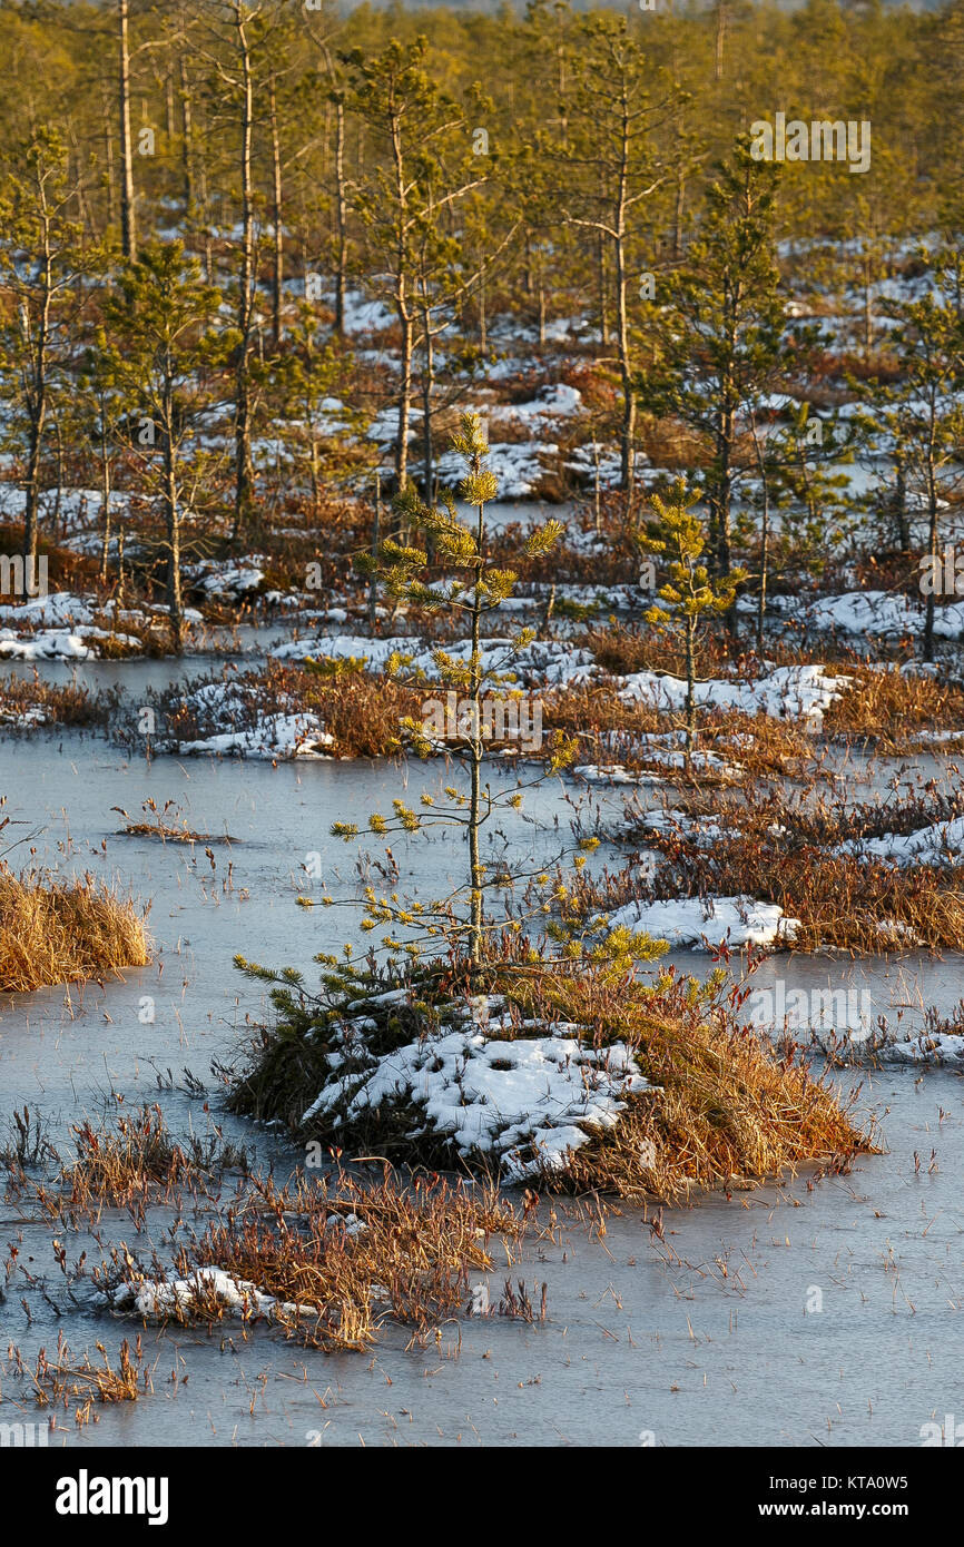
[[[331,1114],[337,1126],[345,1100],[348,1120],[384,1103],[415,1103],[460,1154],[491,1154],[520,1180],[563,1168],[593,1131],[616,1125],[627,1095],[656,1089],[625,1043],[586,1047],[571,1035],[577,1026],[542,1021],[520,1027],[540,1035],[503,1038],[509,1023],[486,1019],[487,1009],[477,1001],[464,1027],[373,1057],[361,1077],[354,1067],[331,1078],[302,1122]],[[331,1061],[334,1072],[342,1055]]]

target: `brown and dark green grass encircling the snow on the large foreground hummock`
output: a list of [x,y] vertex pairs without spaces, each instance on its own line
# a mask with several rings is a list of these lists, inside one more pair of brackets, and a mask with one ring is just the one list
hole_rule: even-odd
[[[520,1024],[534,1018],[565,1021],[580,1027],[579,1035],[593,1046],[627,1041],[641,1071],[661,1088],[631,1097],[616,1126],[577,1149],[565,1170],[546,1174],[546,1187],[602,1188],[675,1202],[695,1188],[724,1187],[727,1179],[761,1182],[803,1163],[832,1165],[868,1148],[870,1140],[853,1126],[832,1089],[743,1029],[735,989],[723,993],[716,984],[701,995],[689,979],[670,973],[653,984],[585,961],[555,959],[548,970],[542,956],[529,956],[509,941],[489,951],[481,981],[478,970],[473,976],[473,992],[504,995],[517,1007]],[[348,1023],[353,1015],[370,1016],[374,1027],[351,1035],[382,1054],[412,1038],[412,1023],[427,1033],[426,1002],[444,1013],[446,1006],[460,1002],[467,985],[458,964],[433,981],[416,968],[409,1007],[385,1010],[371,999],[357,999],[345,1002],[339,1013]],[[299,1021],[294,1035],[283,1015],[262,1030],[251,1067],[234,1088],[237,1111],[282,1118],[300,1131],[300,1114],[331,1078],[325,1057],[328,1013],[317,1013],[314,1033]],[[512,1033],[503,1026],[498,1035]],[[433,1132],[419,1111],[395,1109],[384,1100],[359,1117],[347,1109],[336,1115],[337,1126],[328,1126],[330,1117],[314,1118],[306,1132],[344,1146],[347,1156],[456,1162],[447,1135]],[[647,1143],[655,1154],[644,1165],[641,1146]],[[475,1157],[477,1166],[489,1163],[486,1156]]]

